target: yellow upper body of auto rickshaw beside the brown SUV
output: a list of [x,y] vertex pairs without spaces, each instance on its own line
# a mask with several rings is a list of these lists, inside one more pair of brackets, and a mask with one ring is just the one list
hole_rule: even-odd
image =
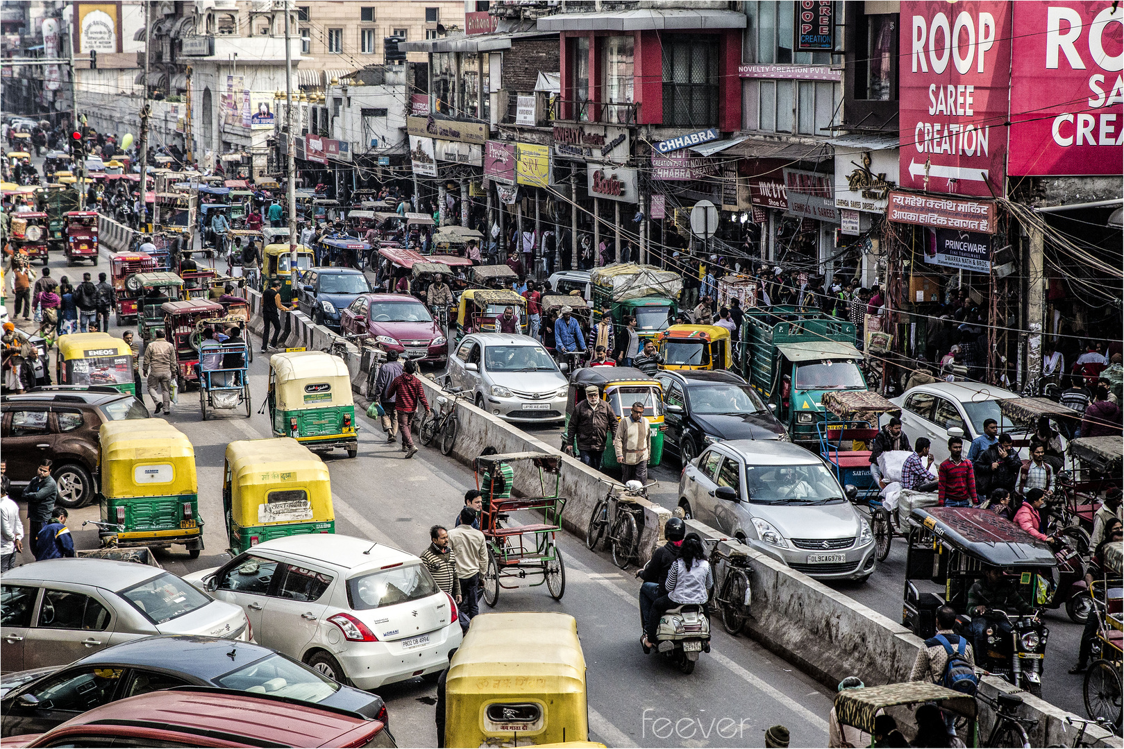
[[196,451],[163,419],[101,424],[101,493],[110,499],[197,494]]

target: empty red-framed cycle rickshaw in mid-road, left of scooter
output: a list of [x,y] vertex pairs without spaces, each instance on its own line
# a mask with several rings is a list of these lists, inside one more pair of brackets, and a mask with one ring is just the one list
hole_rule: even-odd
[[[529,464],[538,471],[540,496],[508,497],[492,496],[492,487],[483,486],[481,475],[496,475],[505,464]],[[547,453],[511,453],[487,455],[477,458],[477,487],[484,492],[484,511],[480,519],[480,530],[488,542],[488,568],[483,575],[484,603],[495,606],[500,588],[519,587],[515,581],[541,576],[532,587],[546,584],[546,590],[555,601],[565,593],[565,565],[562,549],[555,536],[562,530],[562,510],[565,499],[559,496],[562,486],[562,460]],[[515,466],[513,466],[515,467]],[[547,475],[554,476],[554,491],[546,493]],[[504,494],[510,493],[510,487]],[[542,512],[543,522],[526,526],[506,523],[509,513],[520,510]]]

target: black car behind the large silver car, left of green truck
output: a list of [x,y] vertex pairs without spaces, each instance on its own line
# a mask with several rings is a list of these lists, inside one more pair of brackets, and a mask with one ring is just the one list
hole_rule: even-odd
[[663,449],[682,465],[714,442],[789,439],[772,410],[732,372],[661,369],[655,378],[663,386]]

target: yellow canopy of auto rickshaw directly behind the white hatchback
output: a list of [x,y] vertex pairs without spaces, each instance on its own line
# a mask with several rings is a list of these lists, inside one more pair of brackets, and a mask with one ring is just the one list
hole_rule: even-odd
[[[332,477],[328,466],[292,437],[243,439],[226,448],[230,512],[242,527],[269,522],[259,505],[270,503],[272,492],[303,490],[312,517],[297,522],[334,520]],[[275,499],[275,497],[274,497]]]

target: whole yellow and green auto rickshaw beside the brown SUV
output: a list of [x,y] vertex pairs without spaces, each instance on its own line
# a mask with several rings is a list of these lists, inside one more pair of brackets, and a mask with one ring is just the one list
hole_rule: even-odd
[[196,451],[188,438],[163,419],[108,421],[100,437],[102,545],[182,544],[197,558],[203,519]]

